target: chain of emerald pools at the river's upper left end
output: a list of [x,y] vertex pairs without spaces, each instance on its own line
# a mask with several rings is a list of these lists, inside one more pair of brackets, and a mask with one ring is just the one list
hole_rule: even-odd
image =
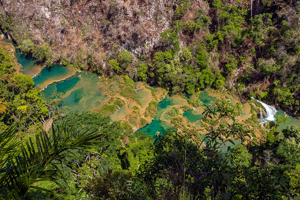
[[[7,38],[3,38],[2,41],[12,43],[16,47],[16,44]],[[40,71],[36,60],[23,54],[20,49],[15,49],[15,57],[22,65],[24,75],[32,77]],[[33,77],[35,87],[44,88],[51,83],[42,92],[46,99],[55,98],[54,94],[59,92],[61,98],[59,107],[63,111],[88,111],[100,106],[106,97],[103,95],[104,87],[99,84],[98,76],[90,72],[81,72],[65,79],[66,76],[73,74],[73,71],[72,68],[62,65],[44,67]],[[62,79],[65,80],[59,81]]]

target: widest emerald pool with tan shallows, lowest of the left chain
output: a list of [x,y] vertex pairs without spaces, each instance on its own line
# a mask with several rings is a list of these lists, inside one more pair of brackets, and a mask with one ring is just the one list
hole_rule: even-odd
[[96,74],[78,72],[64,81],[50,84],[42,92],[46,99],[54,98],[57,92],[61,93],[59,108],[63,111],[89,111],[100,106],[107,98],[104,90]]

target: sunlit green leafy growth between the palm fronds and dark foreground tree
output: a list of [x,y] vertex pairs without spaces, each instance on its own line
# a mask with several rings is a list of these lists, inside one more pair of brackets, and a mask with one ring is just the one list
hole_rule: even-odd
[[[153,146],[152,137],[142,132],[133,134],[130,125],[111,121],[109,117],[96,112],[70,112],[64,119],[59,119],[57,124],[63,121],[67,121],[79,133],[92,130],[105,134],[102,156],[85,156],[91,158],[88,163],[95,169],[88,165],[76,167],[78,165],[73,160],[66,161],[74,166],[76,173],[76,177],[70,177],[68,181],[76,179],[79,188],[84,187],[99,199],[146,199],[146,193],[151,188],[135,178],[135,173],[153,157],[153,152],[149,151]],[[71,152],[82,155],[80,151]]]

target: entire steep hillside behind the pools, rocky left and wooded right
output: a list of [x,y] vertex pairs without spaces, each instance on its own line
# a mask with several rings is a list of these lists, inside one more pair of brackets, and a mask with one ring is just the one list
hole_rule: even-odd
[[23,52],[194,94],[230,90],[299,115],[300,4],[283,0],[1,0]]

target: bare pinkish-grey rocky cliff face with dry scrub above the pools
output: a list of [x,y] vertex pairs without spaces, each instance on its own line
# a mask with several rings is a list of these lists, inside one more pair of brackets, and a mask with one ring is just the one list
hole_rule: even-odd
[[[61,59],[79,67],[102,66],[101,56],[116,45],[136,54],[149,53],[160,33],[172,25],[176,6],[173,0],[0,2],[2,31],[17,44],[47,43],[52,61]],[[190,13],[199,7],[205,7],[205,1],[192,3]],[[189,13],[184,16],[190,17]]]

